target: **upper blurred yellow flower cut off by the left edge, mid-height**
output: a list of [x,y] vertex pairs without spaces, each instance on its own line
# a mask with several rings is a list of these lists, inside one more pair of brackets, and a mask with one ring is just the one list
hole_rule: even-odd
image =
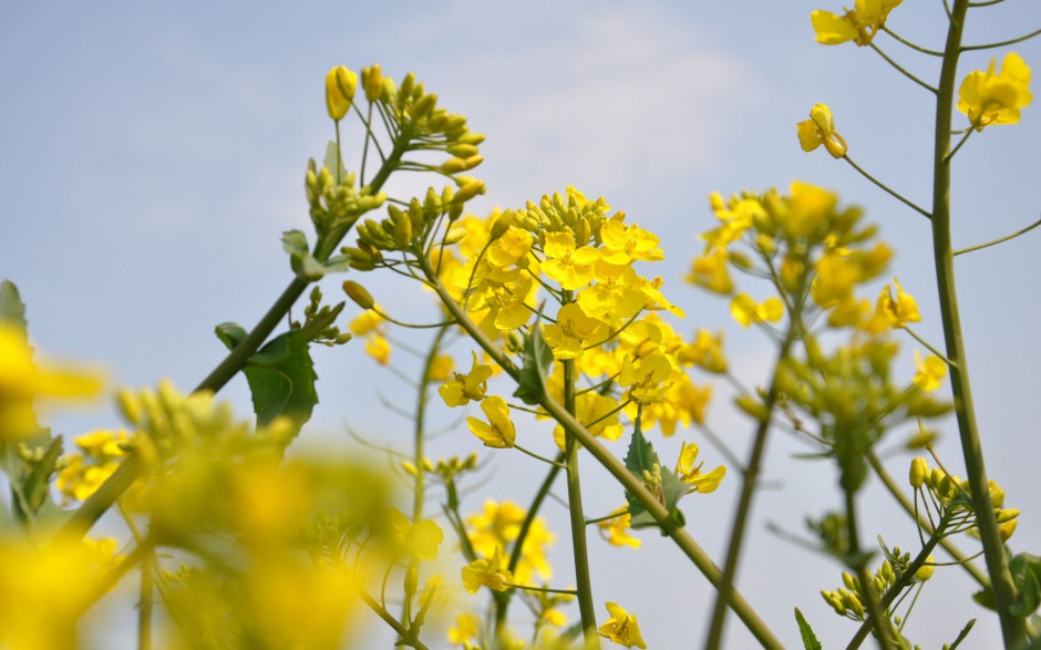
[[25,334],[0,322],[0,441],[37,431],[37,401],[84,400],[101,391],[97,373],[37,364]]

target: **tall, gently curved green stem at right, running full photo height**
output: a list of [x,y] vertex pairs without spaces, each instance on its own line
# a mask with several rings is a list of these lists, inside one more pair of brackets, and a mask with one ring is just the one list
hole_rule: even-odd
[[955,289],[955,256],[950,236],[950,159],[948,154],[950,152],[951,105],[968,8],[968,0],[955,0],[947,31],[944,64],[940,69],[939,93],[936,102],[936,144],[932,158],[932,250],[944,337],[947,341],[947,358],[955,362],[950,369],[950,380],[961,437],[961,452],[976,508],[980,540],[983,545],[987,572],[990,575],[998,617],[1001,620],[1001,634],[1006,647],[1014,648],[1027,641],[1024,621],[1013,617],[1009,611],[1016,600],[1016,586],[1012,584],[1004,545],[998,534],[998,523],[990,502],[983,450],[980,444],[972,390],[969,384],[961,314],[958,310],[958,295]]

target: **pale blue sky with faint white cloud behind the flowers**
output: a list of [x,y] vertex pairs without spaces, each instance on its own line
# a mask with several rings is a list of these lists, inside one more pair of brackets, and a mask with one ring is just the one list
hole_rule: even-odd
[[[804,154],[795,137],[795,123],[815,103],[831,105],[851,157],[928,207],[931,95],[868,49],[816,44],[808,14],[818,8],[838,12],[842,4],[4,3],[0,276],[20,288],[31,338],[50,357],[102,364],[118,385],[169,378],[189,390],[223,358],[214,327],[224,321],[251,327],[290,279],[279,239],[284,230],[310,229],[303,172],[309,157],[322,157],[332,136],[323,104],[326,72],[337,64],[360,70],[378,62],[395,79],[414,71],[437,93],[440,105],[467,115],[471,128],[487,135],[481,147],[486,162],[476,173],[488,193],[470,204],[473,211],[518,207],[575,185],[587,196],[607,197],[628,221],[661,236],[667,260],[655,272],[666,278],[667,296],[687,311],[679,331],[689,337],[695,328],[723,328],[731,364],[745,383],[764,381],[774,354],[769,341],[730,322],[724,300],[682,282],[700,250],[697,234],[713,224],[707,200],[712,190],[729,195],[800,179],[864,206],[896,250],[893,272],[918,299],[924,322],[916,330],[939,347],[926,219],[823,151]],[[966,42],[1001,41],[1039,24],[1041,4],[1008,0],[972,11]],[[908,0],[893,12],[889,27],[941,49],[946,17],[938,1]],[[877,42],[935,82],[938,60],[888,37]],[[1013,50],[1034,66],[1041,62],[1035,41]],[[1007,51],[966,54],[959,76],[986,69],[991,55]],[[958,154],[956,248],[1007,235],[1041,216],[1038,110],[1024,110],[1017,126],[976,134]],[[956,115],[957,127],[965,124]],[[358,159],[351,142],[359,140],[344,138],[349,167]],[[425,185],[416,183],[391,189],[401,196],[423,192]],[[1006,488],[1007,504],[1024,513],[1013,548],[1034,553],[1041,549],[1034,475],[1038,237],[957,262],[988,471]],[[342,279],[322,283],[330,300]],[[433,302],[415,287],[357,274],[353,279],[365,282],[394,316],[435,318]],[[743,287],[753,295],[765,291],[752,282]],[[422,337],[408,340],[426,344]],[[313,352],[322,401],[301,445],[360,453],[346,434],[350,425],[370,440],[406,448],[409,423],[375,404],[378,395],[412,404],[411,389],[364,357],[359,343]],[[905,343],[898,372],[909,378],[916,343]],[[457,363],[468,367],[467,348],[454,352]],[[414,359],[401,350],[394,354],[406,373],[419,372]],[[244,416],[249,413],[244,381],[233,382],[221,396]],[[440,413],[440,424],[456,427],[432,443],[432,456],[485,451],[457,424],[457,415]],[[712,405],[709,422],[745,455],[753,427],[725,399]],[[115,423],[111,407],[52,422],[68,435]],[[526,446],[549,452],[547,432],[532,425],[519,436]],[[952,423],[944,423],[941,432],[940,453],[960,471]],[[883,448],[899,447],[909,434],[894,431]],[[701,444],[710,466],[721,462],[697,431],[652,437],[664,458],[676,457],[681,440]],[[611,448],[622,456],[626,444],[623,439]],[[797,606],[832,648],[855,629],[818,595],[841,585],[841,567],[764,528],[773,522],[802,534],[806,516],[839,507],[831,465],[792,458],[806,451],[780,431],[770,441],[770,489],[754,503],[740,589],[786,644],[798,643],[792,617]],[[894,456],[893,473],[905,476],[908,462],[907,455]],[[587,512],[606,513],[622,503],[621,489],[606,473],[591,462],[586,466]],[[488,472],[493,479],[464,509],[478,509],[484,497],[526,503],[538,481],[533,476],[543,468],[519,454],[499,453]],[[688,529],[720,561],[739,485],[734,472],[715,494],[683,502]],[[564,494],[563,483],[558,493]],[[888,505],[877,482],[863,501],[865,541],[880,533],[890,544],[914,547],[914,527]],[[546,515],[558,536],[555,581],[567,586],[565,510],[549,503]],[[617,601],[639,617],[651,648],[700,644],[711,589],[668,539],[650,532],[640,536],[639,551],[609,547],[595,534],[590,539],[598,615],[606,619],[602,602]],[[939,647],[968,618],[979,617],[963,647],[998,642],[996,619],[970,601],[972,587],[957,568],[937,571],[934,582],[909,623],[914,640]],[[101,608],[95,620],[110,613]],[[131,634],[106,627],[100,644],[132,647]],[[751,647],[740,622],[732,619],[728,629],[728,648]]]

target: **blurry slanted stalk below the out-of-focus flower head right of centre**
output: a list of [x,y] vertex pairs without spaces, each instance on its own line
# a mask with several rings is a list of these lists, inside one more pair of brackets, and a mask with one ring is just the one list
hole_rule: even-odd
[[734,514],[734,522],[730,529],[730,543],[726,548],[726,559],[723,561],[723,575],[720,584],[717,586],[715,605],[712,607],[712,622],[709,626],[709,634],[704,644],[709,650],[717,650],[721,647],[723,641],[723,627],[726,621],[726,603],[730,600],[731,591],[734,590],[734,580],[738,575],[738,558],[741,556],[744,532],[748,527],[749,515],[752,509],[752,496],[755,493],[760,466],[762,465],[763,454],[766,450],[766,436],[770,431],[770,425],[773,422],[774,405],[780,395],[780,391],[777,390],[777,376],[781,363],[787,357],[795,341],[795,333],[798,330],[802,316],[802,305],[803,301],[797,301],[791,312],[787,332],[785,333],[784,340],[781,342],[781,349],[777,352],[777,361],[774,365],[773,379],[770,381],[770,390],[766,392],[766,399],[763,404],[766,409],[766,415],[756,426],[755,437],[752,442],[752,453],[742,473],[738,510]]

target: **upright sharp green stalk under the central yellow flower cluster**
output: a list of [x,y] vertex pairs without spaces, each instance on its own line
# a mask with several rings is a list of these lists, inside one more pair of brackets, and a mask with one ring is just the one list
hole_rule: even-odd
[[[575,415],[575,360],[564,361],[564,409]],[[571,524],[571,551],[575,559],[575,581],[578,587],[578,611],[581,616],[586,649],[600,647],[597,632],[596,603],[592,601],[592,580],[589,576],[589,549],[586,545],[586,514],[581,505],[581,482],[578,474],[578,441],[574,433],[564,431],[564,464],[567,466],[567,504]]]

